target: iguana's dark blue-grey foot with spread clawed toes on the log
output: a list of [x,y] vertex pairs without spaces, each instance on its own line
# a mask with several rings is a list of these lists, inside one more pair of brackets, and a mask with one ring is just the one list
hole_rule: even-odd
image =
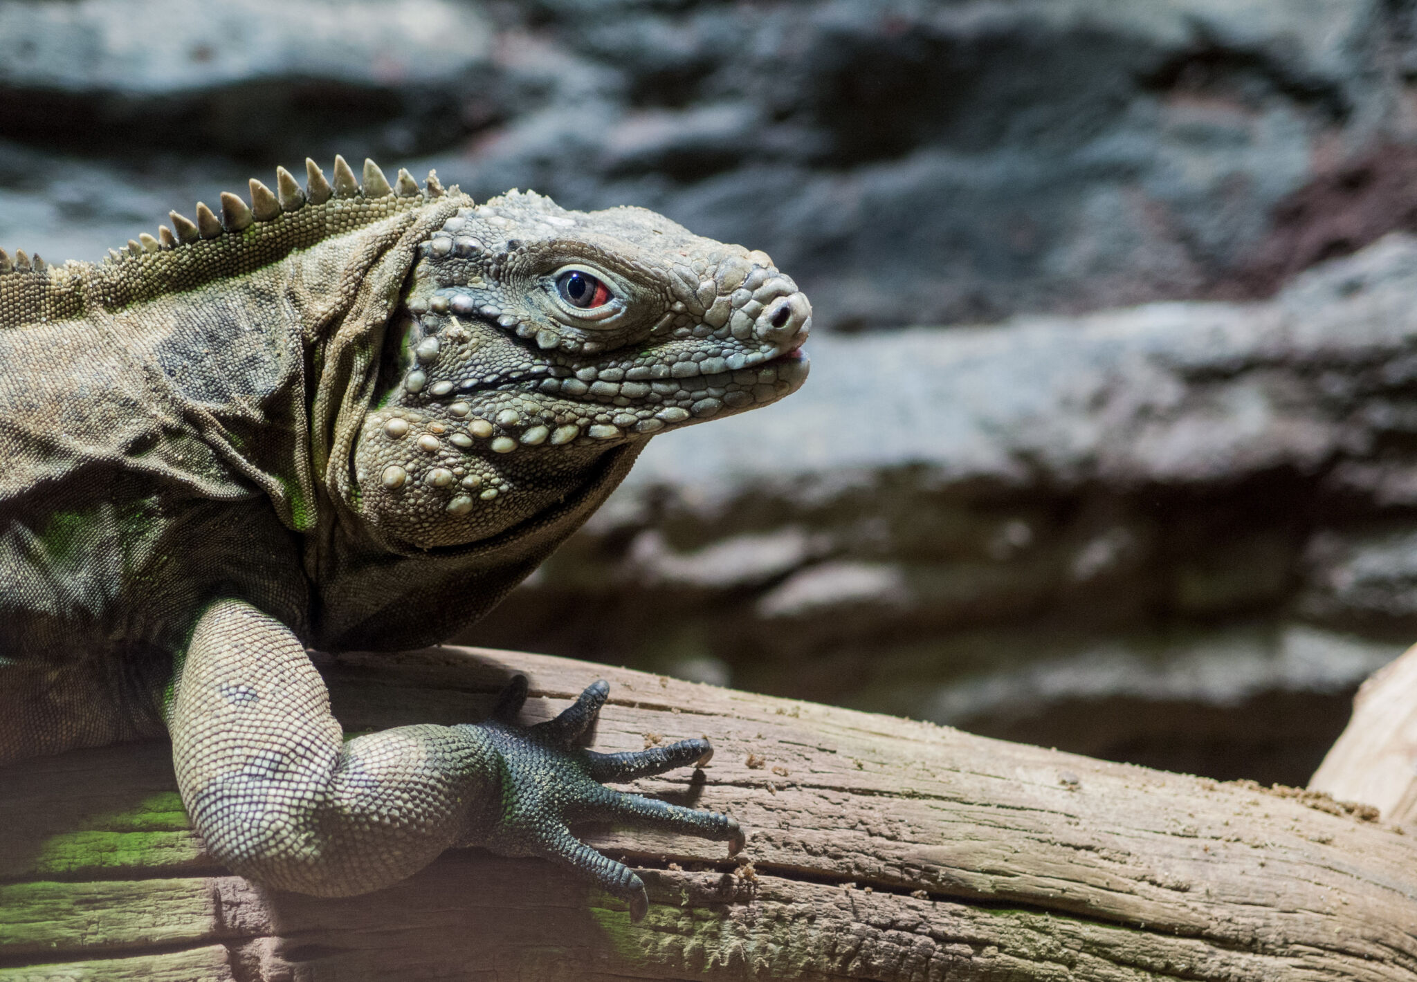
[[601,679],[554,720],[523,727],[516,716],[527,697],[526,676],[519,675],[507,683],[492,718],[478,724],[500,757],[502,811],[489,822],[489,829],[472,830],[469,845],[506,856],[541,856],[564,863],[628,901],[631,920],[638,921],[649,910],[645,883],[623,863],[572,836],[570,823],[614,822],[622,828],[726,840],[728,854],[743,849],[745,837],[728,815],[682,808],[601,784],[706,764],[713,757],[707,740],[682,740],[625,754],[597,754],[574,745],[601,711],[609,690],[609,683]]

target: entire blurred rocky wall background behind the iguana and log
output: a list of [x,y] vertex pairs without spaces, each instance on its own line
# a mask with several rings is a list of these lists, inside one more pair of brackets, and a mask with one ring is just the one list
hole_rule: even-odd
[[1411,0],[0,1],[0,245],[334,153],[816,307],[468,640],[1302,784],[1417,639]]

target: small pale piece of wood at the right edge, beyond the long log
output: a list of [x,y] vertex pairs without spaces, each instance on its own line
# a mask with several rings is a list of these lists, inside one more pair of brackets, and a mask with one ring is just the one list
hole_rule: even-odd
[[1353,716],[1309,788],[1417,825],[1417,646],[1379,669],[1353,697]]

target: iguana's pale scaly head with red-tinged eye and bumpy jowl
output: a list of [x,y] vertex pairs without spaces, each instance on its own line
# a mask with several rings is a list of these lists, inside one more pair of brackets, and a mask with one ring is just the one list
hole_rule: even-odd
[[419,251],[354,455],[361,516],[415,547],[496,534],[601,455],[806,378],[796,285],[643,208],[512,191]]

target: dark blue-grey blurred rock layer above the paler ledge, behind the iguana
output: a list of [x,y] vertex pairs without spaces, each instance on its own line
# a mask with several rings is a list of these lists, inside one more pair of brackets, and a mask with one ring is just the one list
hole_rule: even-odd
[[0,140],[38,154],[20,170],[0,147],[0,237],[98,258],[248,171],[341,152],[479,196],[657,208],[768,249],[825,327],[1258,296],[1417,228],[1414,18],[1411,0],[0,1]]

